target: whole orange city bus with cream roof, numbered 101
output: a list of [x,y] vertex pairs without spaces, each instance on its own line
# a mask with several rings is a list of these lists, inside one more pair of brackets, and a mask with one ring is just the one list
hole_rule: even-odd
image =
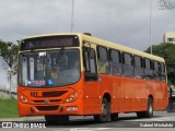
[[163,58],[102,40],[62,33],[22,39],[19,51],[20,116],[116,120],[119,112],[153,117],[168,103]]

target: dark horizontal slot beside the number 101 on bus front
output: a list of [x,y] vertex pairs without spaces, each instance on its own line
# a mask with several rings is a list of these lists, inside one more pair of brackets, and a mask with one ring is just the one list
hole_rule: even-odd
[[66,94],[68,91],[59,91],[59,92],[43,92],[43,97],[58,97]]

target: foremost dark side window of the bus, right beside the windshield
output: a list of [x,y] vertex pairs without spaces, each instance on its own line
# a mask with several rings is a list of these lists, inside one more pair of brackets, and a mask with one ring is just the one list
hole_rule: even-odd
[[85,81],[97,80],[95,50],[83,47],[83,64],[85,70]]

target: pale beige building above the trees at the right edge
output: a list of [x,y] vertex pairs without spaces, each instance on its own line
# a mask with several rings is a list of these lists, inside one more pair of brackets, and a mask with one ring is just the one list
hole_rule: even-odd
[[175,44],[175,32],[167,32],[164,34],[164,43]]

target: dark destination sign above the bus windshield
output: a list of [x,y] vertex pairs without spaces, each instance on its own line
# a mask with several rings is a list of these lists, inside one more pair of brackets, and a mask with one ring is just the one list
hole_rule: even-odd
[[24,39],[21,43],[20,50],[59,48],[59,47],[77,47],[79,46],[78,36],[47,36]]

